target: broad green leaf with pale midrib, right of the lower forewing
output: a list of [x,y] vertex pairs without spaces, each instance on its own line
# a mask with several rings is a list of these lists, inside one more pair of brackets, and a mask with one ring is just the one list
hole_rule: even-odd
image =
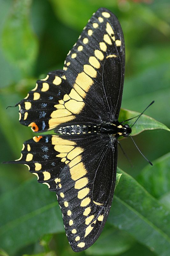
[[118,173],[123,175],[115,190],[108,222],[120,230],[127,231],[156,254],[169,255],[168,210],[127,173],[120,169]]

